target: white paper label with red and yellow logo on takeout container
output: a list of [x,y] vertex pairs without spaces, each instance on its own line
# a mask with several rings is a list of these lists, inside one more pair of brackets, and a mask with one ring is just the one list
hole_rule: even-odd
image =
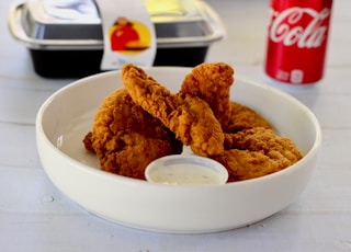
[[143,0],[97,0],[103,31],[101,70],[154,65],[156,32]]

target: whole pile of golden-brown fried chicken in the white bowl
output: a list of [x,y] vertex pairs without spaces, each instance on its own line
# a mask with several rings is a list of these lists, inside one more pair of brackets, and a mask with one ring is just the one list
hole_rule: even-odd
[[302,159],[295,144],[275,135],[264,117],[229,100],[233,78],[226,64],[202,64],[172,94],[127,64],[125,89],[101,104],[86,149],[97,152],[103,170],[137,179],[145,179],[154,159],[180,153],[182,144],[223,163],[228,182],[271,174]]

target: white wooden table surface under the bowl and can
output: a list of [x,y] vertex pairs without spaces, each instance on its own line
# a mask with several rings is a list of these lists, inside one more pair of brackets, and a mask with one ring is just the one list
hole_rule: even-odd
[[[265,82],[268,0],[208,1],[228,36],[207,61]],[[0,2],[0,251],[351,251],[351,1],[333,2],[326,76],[291,93],[318,117],[318,169],[298,201],[249,227],[208,234],[165,234],[122,227],[63,195],[38,159],[34,121],[41,104],[71,79],[33,71],[26,48],[8,32],[11,0]],[[285,85],[282,87],[285,90]]]

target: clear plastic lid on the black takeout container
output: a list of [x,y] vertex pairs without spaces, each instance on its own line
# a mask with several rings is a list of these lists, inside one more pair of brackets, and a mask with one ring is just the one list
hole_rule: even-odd
[[[217,13],[199,0],[145,0],[158,47],[206,46],[225,36]],[[27,0],[10,11],[10,30],[35,48],[102,48],[93,0]]]

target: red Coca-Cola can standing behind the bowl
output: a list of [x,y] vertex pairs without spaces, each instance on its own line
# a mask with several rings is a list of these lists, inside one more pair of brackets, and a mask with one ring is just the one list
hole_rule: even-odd
[[332,0],[271,0],[267,75],[291,84],[324,76]]

